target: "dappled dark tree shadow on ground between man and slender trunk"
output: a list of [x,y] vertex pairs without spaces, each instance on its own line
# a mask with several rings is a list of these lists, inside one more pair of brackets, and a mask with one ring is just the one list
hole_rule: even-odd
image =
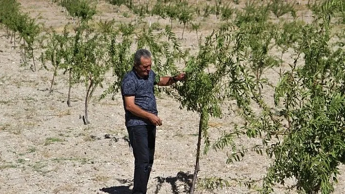
[[[193,175],[189,174],[189,172],[185,173],[183,171],[180,171],[177,173],[176,176],[168,176],[168,177],[157,176],[154,178],[156,178],[158,181],[158,184],[156,185],[156,191],[154,192],[155,194],[158,194],[160,188],[165,182],[171,184],[173,194],[178,194],[179,193],[178,188],[181,186],[183,186],[182,192],[186,192],[186,193],[189,192],[189,188],[191,188],[192,186]],[[182,183],[177,185],[177,181],[180,181]]]

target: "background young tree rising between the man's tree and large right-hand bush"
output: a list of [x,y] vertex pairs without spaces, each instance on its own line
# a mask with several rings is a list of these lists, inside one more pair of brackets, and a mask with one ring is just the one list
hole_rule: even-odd
[[[279,37],[276,24],[268,20],[268,8],[269,4],[249,3],[243,12],[237,13],[235,18],[243,41],[244,52],[241,55],[245,55],[244,60],[249,64],[257,80],[261,79],[265,70],[279,65],[277,58],[268,54],[274,45],[272,42]],[[257,82],[260,93],[261,82],[265,80]]]

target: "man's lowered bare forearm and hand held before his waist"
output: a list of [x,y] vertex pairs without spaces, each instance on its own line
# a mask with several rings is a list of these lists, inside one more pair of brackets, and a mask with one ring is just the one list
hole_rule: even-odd
[[125,96],[124,101],[125,101],[125,109],[130,111],[132,114],[135,116],[148,119],[153,123],[154,125],[162,125],[162,121],[157,117],[155,114],[151,112],[147,112],[143,109],[141,109],[139,106],[134,104],[134,98],[135,96]]

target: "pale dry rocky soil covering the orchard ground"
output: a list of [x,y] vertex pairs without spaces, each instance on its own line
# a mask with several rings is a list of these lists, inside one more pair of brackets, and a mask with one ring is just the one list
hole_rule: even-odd
[[[23,11],[44,23],[45,27],[63,27],[72,19],[62,13],[62,7],[47,0],[19,0]],[[128,20],[114,15],[112,6],[101,2],[97,17]],[[177,33],[182,29],[176,27]],[[204,34],[208,33],[206,29]],[[193,48],[196,38],[186,33],[186,47]],[[132,188],[134,157],[124,125],[124,110],[120,95],[98,101],[99,88],[90,101],[89,120],[84,125],[85,88],[76,85],[72,91],[72,107],[67,107],[67,77],[59,72],[54,91],[48,94],[52,71],[33,72],[22,66],[20,49],[0,31],[0,193],[1,194],[126,194]],[[194,43],[193,43],[194,41]],[[39,52],[35,53],[38,60]],[[272,73],[271,75],[269,73]],[[267,76],[276,76],[268,71]],[[111,79],[111,77],[109,78]],[[272,96],[272,93],[265,94]],[[148,194],[184,193],[194,170],[199,117],[179,109],[179,104],[165,96],[157,97],[163,125],[157,128],[156,153]],[[211,138],[223,130],[233,129],[235,115],[211,119]],[[261,144],[261,139],[245,136],[235,140],[238,146]],[[269,159],[250,152],[246,157],[227,165],[227,151],[202,155],[199,177],[231,177],[260,179],[266,173]],[[344,166],[341,166],[344,173]],[[291,180],[290,183],[292,183]],[[277,186],[274,193],[287,192]],[[339,176],[335,193],[345,191],[345,176]],[[229,187],[197,194],[247,194],[248,190],[235,181]],[[290,193],[294,193],[291,191]]]

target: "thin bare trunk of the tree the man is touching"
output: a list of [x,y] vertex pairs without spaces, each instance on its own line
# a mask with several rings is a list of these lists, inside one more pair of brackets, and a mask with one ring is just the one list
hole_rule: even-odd
[[198,144],[196,148],[196,159],[195,159],[195,166],[194,166],[194,174],[193,174],[193,179],[192,179],[192,186],[189,190],[190,194],[194,194],[195,190],[195,183],[196,179],[198,176],[198,172],[200,170],[199,167],[199,160],[200,160],[200,146],[201,146],[201,136],[202,136],[202,131],[203,129],[206,130],[207,124],[208,124],[208,117],[207,117],[207,112],[205,110],[201,110],[200,113],[200,121],[199,121],[199,135],[198,135]]

